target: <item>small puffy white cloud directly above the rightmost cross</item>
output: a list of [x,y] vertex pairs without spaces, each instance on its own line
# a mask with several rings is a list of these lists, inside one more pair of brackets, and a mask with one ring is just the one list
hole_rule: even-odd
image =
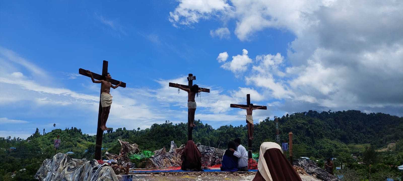
[[242,55],[233,56],[232,61],[224,63],[221,65],[221,68],[230,70],[235,73],[236,76],[239,76],[239,73],[247,70],[247,65],[249,63],[252,63],[252,59],[249,58],[248,51],[242,49]]

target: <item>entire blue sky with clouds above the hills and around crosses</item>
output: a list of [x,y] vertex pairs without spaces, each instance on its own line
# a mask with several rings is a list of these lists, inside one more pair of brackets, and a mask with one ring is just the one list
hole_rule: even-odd
[[127,83],[111,91],[114,128],[187,120],[186,94],[168,82],[185,84],[188,73],[212,90],[195,118],[214,128],[245,124],[229,104],[246,94],[268,106],[257,120],[308,110],[403,116],[401,2],[0,3],[0,136],[53,123],[95,134],[100,85],[78,69],[101,73],[102,60]]

